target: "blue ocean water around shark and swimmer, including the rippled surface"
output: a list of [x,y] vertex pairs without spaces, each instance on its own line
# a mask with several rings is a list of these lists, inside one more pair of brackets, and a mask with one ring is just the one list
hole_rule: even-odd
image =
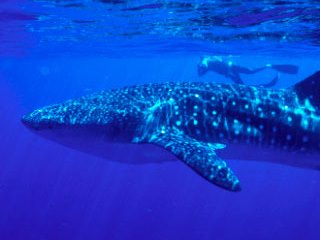
[[[228,161],[242,191],[182,162],[136,164],[87,155],[20,122],[47,104],[101,89],[231,80],[197,65],[320,69],[318,1],[2,0],[0,2],[0,239],[320,239],[320,172]],[[244,75],[247,84],[275,76]],[[123,153],[124,157],[126,153]],[[152,155],[150,156],[152,158]],[[320,160],[320,159],[319,159]],[[141,162],[141,163],[139,163]]]

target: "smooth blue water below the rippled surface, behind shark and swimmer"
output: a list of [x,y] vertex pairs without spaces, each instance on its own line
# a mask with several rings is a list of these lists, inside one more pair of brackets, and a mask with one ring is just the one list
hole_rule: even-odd
[[[196,75],[199,55],[0,60],[0,239],[320,239],[320,172],[228,161],[243,190],[231,193],[181,162],[125,165],[34,135],[22,114],[95,90],[145,82],[228,81]],[[294,63],[294,84],[318,68],[309,59],[246,56],[238,63]],[[250,78],[270,79],[273,72]],[[125,153],[124,153],[125,154]],[[135,156],[139,159],[140,156]]]

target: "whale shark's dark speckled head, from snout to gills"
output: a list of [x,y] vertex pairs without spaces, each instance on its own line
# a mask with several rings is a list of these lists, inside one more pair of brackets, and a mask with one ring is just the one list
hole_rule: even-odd
[[22,122],[38,134],[57,141],[64,136],[92,136],[128,142],[143,114],[138,102],[127,89],[103,91],[37,109],[24,115]]

